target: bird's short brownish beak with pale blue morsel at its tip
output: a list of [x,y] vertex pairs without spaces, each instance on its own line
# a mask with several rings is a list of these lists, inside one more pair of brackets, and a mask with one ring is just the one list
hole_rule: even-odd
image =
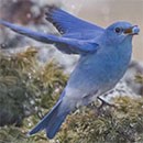
[[123,33],[124,33],[124,34],[128,34],[128,35],[138,35],[139,32],[140,32],[140,29],[139,29],[138,25],[133,25],[133,26],[131,26],[131,28],[129,28],[129,29],[125,29],[125,30],[123,31]]

